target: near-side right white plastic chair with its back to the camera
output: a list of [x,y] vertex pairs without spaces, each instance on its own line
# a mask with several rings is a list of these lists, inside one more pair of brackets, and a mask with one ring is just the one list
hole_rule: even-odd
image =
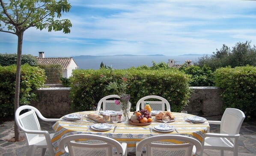
[[[164,139],[175,139],[185,141],[183,144],[164,144]],[[157,142],[156,142],[157,141]],[[202,152],[201,143],[191,137],[184,135],[157,135],[145,138],[136,145],[136,156],[141,156],[143,147],[146,144],[146,156],[191,156],[194,152],[200,154]],[[145,153],[143,153],[143,156]]]

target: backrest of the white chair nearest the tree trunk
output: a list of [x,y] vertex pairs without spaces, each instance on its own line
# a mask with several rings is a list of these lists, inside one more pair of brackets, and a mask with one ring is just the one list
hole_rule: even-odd
[[[31,110],[20,115],[20,112],[24,109],[31,109]],[[36,116],[36,112],[38,113],[39,110],[33,106],[27,106],[27,105],[20,106],[15,112],[15,121],[16,121],[19,129],[21,129],[23,131],[41,130],[38,118]],[[41,113],[40,113],[40,115],[41,115]],[[25,132],[25,136],[26,136],[27,145],[30,145],[30,141],[33,140],[33,138],[38,137],[39,134],[30,134],[30,133]]]

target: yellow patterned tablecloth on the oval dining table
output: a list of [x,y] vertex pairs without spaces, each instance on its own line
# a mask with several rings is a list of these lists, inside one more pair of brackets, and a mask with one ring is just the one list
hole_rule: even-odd
[[[86,112],[77,112],[83,116],[80,121],[57,121],[53,125],[53,129],[55,130],[54,137],[51,139],[52,144],[56,150],[56,156],[66,156],[67,153],[62,153],[59,150],[59,143],[62,138],[68,135],[73,134],[95,134],[107,136],[109,138],[113,138],[120,143],[127,142],[128,151],[136,150],[136,142],[143,140],[143,138],[148,138],[150,136],[155,135],[163,135],[163,134],[177,134],[176,131],[173,132],[158,132],[152,130],[152,133],[149,130],[149,126],[154,127],[157,124],[163,124],[163,122],[152,121],[152,124],[148,126],[136,126],[129,124],[128,121],[117,123],[116,131],[113,133],[113,129],[107,131],[97,131],[90,128],[88,131],[88,127],[94,123],[87,121],[85,118],[86,114],[95,114],[95,111],[86,111]],[[132,114],[132,112],[131,112]],[[173,125],[176,127],[179,134],[192,136],[202,142],[202,136],[206,132],[209,132],[209,124],[206,121],[204,124],[191,124],[190,122],[186,122],[183,120],[181,113],[173,112],[173,115],[177,118],[174,122],[169,122],[169,125]],[[189,115],[188,116],[193,116]],[[155,116],[152,116],[154,118]]]

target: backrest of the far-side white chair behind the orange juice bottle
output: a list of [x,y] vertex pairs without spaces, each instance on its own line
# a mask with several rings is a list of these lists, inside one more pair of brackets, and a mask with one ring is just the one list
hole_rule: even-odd
[[[147,99],[158,99],[161,101],[145,101]],[[165,98],[156,96],[156,95],[149,95],[141,98],[136,104],[136,111],[140,110],[140,106],[141,106],[141,109],[144,109],[146,103],[149,103],[151,109],[154,111],[164,111],[165,105],[166,105],[167,111],[169,112],[171,111],[170,103]]]

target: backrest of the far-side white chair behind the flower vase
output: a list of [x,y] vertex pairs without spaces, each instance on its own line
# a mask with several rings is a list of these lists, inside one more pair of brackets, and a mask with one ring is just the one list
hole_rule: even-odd
[[98,102],[98,107],[97,108],[101,108],[101,103],[103,103],[102,110],[104,110],[104,111],[105,110],[120,111],[121,110],[121,105],[116,105],[115,100],[107,100],[107,99],[110,99],[110,98],[120,99],[120,97],[118,95],[105,96]]

